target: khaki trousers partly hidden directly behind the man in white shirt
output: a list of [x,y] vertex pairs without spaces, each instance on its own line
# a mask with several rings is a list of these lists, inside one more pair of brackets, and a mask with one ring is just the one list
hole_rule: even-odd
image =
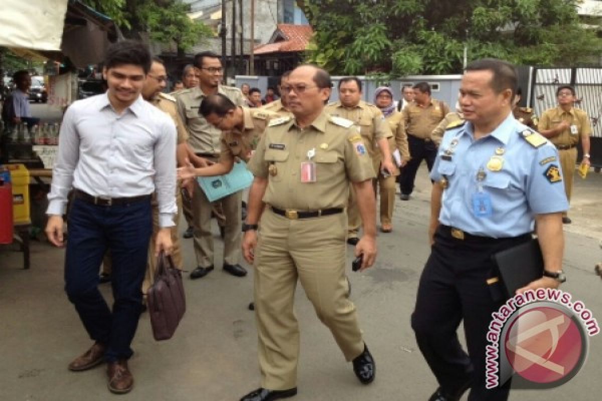
[[[182,191],[181,186],[178,185],[176,194],[176,205],[178,206],[178,213],[174,216],[174,225],[171,228],[173,251],[172,260],[173,264],[178,269],[184,267],[184,261],[182,260],[182,248],[180,246],[180,239],[178,235],[178,224],[182,216]],[[155,282],[155,272],[157,272],[157,258],[155,257],[155,244],[157,240],[157,233],[159,232],[159,205],[157,203],[157,196],[152,195],[152,236],[149,242],[149,256],[148,263],[146,266],[146,274],[144,274],[144,281],[142,283],[142,293],[146,294],[148,289],[151,288]],[[113,265],[111,262],[111,250],[107,249],[105,256],[102,258],[102,270],[104,274],[111,274],[113,271]]]

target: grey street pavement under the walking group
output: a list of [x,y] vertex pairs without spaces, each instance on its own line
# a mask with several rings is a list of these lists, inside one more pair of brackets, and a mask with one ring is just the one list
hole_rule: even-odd
[[[328,329],[305,298],[296,293],[301,330],[299,401],[427,400],[436,388],[410,327],[420,272],[429,246],[430,182],[424,166],[409,201],[397,201],[394,231],[379,233],[376,265],[364,273],[349,268],[351,298],[358,308],[365,341],[376,359],[376,381],[359,384]],[[602,218],[597,212],[602,176],[576,177],[573,224],[566,225],[562,289],[573,293],[602,320],[602,280],[594,274],[602,260]],[[181,230],[184,230],[181,224]],[[130,367],[132,393],[120,400],[236,401],[258,387],[252,271],[246,278],[223,272],[222,242],[214,226],[217,269],[207,277],[184,280],[187,312],[175,337],[154,341],[149,317],[140,319]],[[192,240],[184,244],[185,268],[193,269]],[[104,367],[73,373],[67,364],[87,349],[87,338],[63,291],[63,251],[34,242],[32,267],[22,269],[22,255],[0,251],[0,400],[97,401],[113,399]],[[352,247],[349,246],[349,266]],[[101,285],[110,298],[110,285]],[[463,335],[461,334],[463,338]],[[463,340],[462,340],[463,341]],[[554,390],[513,391],[510,400],[598,400],[602,392],[602,337],[592,337],[589,357],[579,375]],[[466,396],[464,397],[466,399]]]

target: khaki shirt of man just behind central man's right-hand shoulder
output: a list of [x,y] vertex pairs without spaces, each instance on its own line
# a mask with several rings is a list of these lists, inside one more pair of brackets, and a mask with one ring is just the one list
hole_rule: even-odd
[[379,108],[363,100],[354,108],[347,108],[338,101],[327,105],[324,111],[334,117],[347,118],[356,123],[364,137],[368,155],[375,159],[375,162],[380,161],[380,151],[376,154],[376,141],[381,138],[391,138],[393,133]]

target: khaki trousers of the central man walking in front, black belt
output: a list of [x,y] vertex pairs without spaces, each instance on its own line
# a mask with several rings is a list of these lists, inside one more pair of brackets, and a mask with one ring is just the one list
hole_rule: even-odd
[[261,387],[286,390],[297,385],[297,279],[346,360],[364,351],[345,273],[346,220],[345,213],[290,220],[266,207],[254,263]]

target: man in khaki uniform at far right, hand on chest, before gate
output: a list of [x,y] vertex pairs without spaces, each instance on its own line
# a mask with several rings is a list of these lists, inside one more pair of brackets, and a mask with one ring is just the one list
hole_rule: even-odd
[[[539,133],[550,139],[550,142],[558,148],[566,198],[569,203],[577,163],[577,144],[581,140],[583,150],[583,160],[581,162],[589,166],[589,136],[592,135],[592,126],[589,123],[588,114],[582,109],[573,107],[576,99],[575,95],[575,89],[569,85],[558,87],[556,90],[558,106],[544,111],[538,124]],[[562,222],[564,224],[571,223],[571,219],[566,212],[562,215]]]

